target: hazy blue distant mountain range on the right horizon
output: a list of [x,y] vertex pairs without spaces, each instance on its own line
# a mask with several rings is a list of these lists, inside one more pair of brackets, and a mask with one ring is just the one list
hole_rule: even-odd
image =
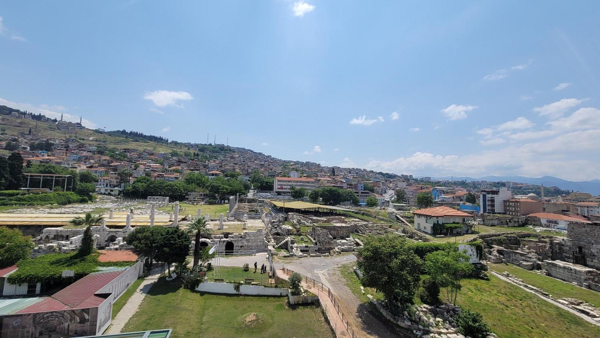
[[519,182],[519,183],[528,183],[535,185],[544,185],[544,186],[556,186],[563,190],[572,190],[572,191],[580,191],[587,192],[592,195],[600,195],[600,180],[589,180],[589,181],[568,181],[559,179],[558,177],[552,176],[543,176],[543,177],[526,177],[526,176],[484,176],[474,179],[473,177],[456,177],[456,176],[446,176],[446,177],[431,177],[434,180],[455,180],[455,181],[464,181],[467,182],[472,181],[490,181],[490,182]]

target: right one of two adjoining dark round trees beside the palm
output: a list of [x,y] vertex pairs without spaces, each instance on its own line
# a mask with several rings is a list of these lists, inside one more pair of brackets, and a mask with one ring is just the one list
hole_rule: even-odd
[[181,264],[189,255],[190,236],[179,228],[166,228],[162,235],[155,239],[158,242],[155,258],[167,264],[170,274],[171,264]]

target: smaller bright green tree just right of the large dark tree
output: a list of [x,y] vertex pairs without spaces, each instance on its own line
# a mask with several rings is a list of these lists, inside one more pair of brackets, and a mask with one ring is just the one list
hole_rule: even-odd
[[425,256],[425,271],[440,288],[446,291],[446,301],[456,303],[464,276],[472,273],[469,255],[452,249],[431,252]]

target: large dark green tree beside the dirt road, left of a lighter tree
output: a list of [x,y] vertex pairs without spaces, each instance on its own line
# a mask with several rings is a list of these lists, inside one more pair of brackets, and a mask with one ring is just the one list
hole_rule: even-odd
[[422,260],[400,236],[368,237],[358,249],[362,285],[382,291],[389,309],[412,304],[421,282]]

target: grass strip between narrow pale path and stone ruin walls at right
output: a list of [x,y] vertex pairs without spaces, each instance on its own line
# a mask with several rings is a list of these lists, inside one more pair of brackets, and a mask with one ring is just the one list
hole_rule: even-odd
[[550,293],[554,298],[577,298],[578,300],[583,300],[586,303],[592,304],[593,306],[600,307],[600,292],[584,289],[571,283],[561,282],[560,280],[552,277],[544,276],[543,274],[527,271],[524,268],[518,267],[517,265],[490,263],[488,264],[488,267],[497,273],[508,271],[508,273],[514,274],[520,279],[523,279],[523,282],[533,285],[536,288],[541,288]]

